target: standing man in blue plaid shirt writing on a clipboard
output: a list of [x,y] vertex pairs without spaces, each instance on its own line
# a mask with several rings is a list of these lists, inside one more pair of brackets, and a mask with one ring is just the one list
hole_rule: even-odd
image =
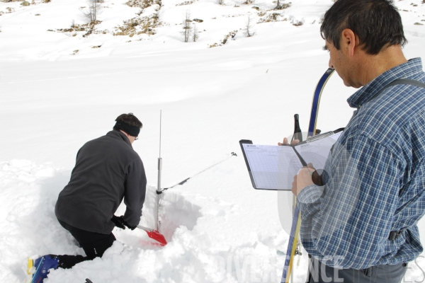
[[392,0],[338,0],[321,33],[329,67],[360,89],[348,98],[356,111],[319,185],[310,175],[314,164],[294,179],[310,283],[398,283],[423,250],[416,226],[425,213],[421,59],[404,57],[407,40]]

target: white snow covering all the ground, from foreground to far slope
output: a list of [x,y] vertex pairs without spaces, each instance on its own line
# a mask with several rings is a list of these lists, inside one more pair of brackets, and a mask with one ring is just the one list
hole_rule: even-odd
[[[154,35],[132,37],[113,35],[115,27],[140,13],[123,0],[105,0],[101,23],[86,37],[86,31],[57,30],[70,28],[73,20],[84,24],[80,10],[86,1],[0,2],[0,282],[23,282],[27,256],[84,254],[57,223],[55,201],[78,149],[106,134],[123,112],[134,112],[144,124],[134,144],[149,183],[141,224],[154,228],[160,109],[164,187],[232,151],[239,156],[164,192],[160,230],[167,246],[157,246],[141,230],[115,229],[118,241],[103,258],[55,270],[45,282],[280,279],[284,257],[277,250],[286,250],[290,194],[251,187],[238,141],[276,144],[292,134],[295,113],[306,129],[312,92],[329,60],[321,50],[319,22],[332,1],[293,0],[280,11],[269,11],[276,3],[263,0],[248,5],[242,0],[183,2],[164,0],[159,11],[155,5],[145,8],[140,16],[158,13],[162,26],[154,28]],[[420,25],[425,4],[396,5],[409,40],[406,56],[425,57]],[[187,10],[191,19],[203,20],[196,24],[197,42],[182,41]],[[244,37],[241,30],[248,13],[254,37]],[[272,13],[280,14],[276,22],[259,23],[273,18]],[[222,44],[235,30],[235,40]],[[215,43],[222,46],[208,48]],[[338,76],[331,77],[319,129],[346,125],[352,110],[345,100],[353,91]],[[121,206],[117,215],[124,210]],[[425,243],[424,220],[419,227]],[[294,282],[303,282],[306,255],[297,262]],[[420,257],[409,265],[405,281],[421,282],[422,270]]]

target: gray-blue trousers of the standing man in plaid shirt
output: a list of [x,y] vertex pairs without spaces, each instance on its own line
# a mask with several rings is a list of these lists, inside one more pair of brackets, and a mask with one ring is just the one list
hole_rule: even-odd
[[375,265],[364,270],[340,270],[310,259],[310,283],[400,283],[407,270],[407,263]]

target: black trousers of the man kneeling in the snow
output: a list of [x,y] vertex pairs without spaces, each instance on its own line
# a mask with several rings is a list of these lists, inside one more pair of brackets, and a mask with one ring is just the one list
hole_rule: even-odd
[[86,256],[82,255],[56,255],[59,258],[59,267],[62,268],[71,268],[74,265],[77,265],[79,262],[85,260],[93,260],[94,258],[101,257],[105,250],[110,248],[113,244],[113,241],[116,240],[113,233],[101,234],[94,233],[85,230],[81,230],[71,226],[64,221],[57,219],[59,223],[67,229],[69,233],[77,240],[81,248],[83,248]]

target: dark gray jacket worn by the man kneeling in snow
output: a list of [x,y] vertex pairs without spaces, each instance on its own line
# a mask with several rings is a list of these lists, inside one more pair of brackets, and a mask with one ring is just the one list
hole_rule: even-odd
[[71,180],[60,192],[55,214],[85,231],[108,234],[111,218],[124,199],[124,220],[136,226],[145,202],[146,175],[128,137],[113,130],[84,144],[77,153]]

